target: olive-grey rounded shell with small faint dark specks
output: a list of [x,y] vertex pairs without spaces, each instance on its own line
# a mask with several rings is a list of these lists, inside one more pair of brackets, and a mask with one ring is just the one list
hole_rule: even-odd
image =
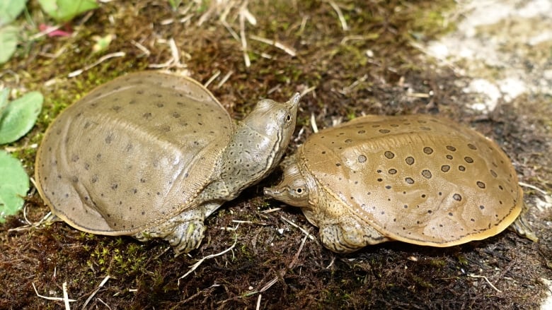
[[193,206],[233,128],[224,107],[191,78],[115,78],[46,131],[35,163],[38,191],[78,229],[134,234]]

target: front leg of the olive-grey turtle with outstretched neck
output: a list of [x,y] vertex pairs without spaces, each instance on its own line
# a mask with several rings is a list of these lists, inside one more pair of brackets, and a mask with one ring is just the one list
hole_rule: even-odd
[[134,238],[145,242],[153,238],[168,241],[175,256],[197,249],[205,236],[205,217],[219,208],[220,203],[207,203],[198,208],[184,211],[161,225],[134,234]]

